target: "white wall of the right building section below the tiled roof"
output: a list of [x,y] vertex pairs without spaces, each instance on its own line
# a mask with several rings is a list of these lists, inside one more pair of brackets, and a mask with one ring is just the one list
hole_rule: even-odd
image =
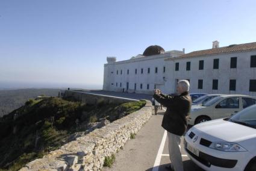
[[[232,54],[210,55],[207,57],[176,58],[173,64],[180,63],[179,71],[174,72],[174,79],[190,79],[190,92],[243,94],[256,96],[249,92],[249,80],[256,79],[256,68],[251,68],[251,55],[256,51]],[[231,57],[237,57],[237,68],[230,68]],[[219,58],[219,69],[213,69],[213,59]],[[199,70],[199,60],[204,60],[204,70]],[[190,61],[190,71],[186,62]],[[203,79],[203,89],[198,89],[198,79]],[[213,90],[213,79],[218,79],[218,90]],[[236,79],[236,91],[229,91],[229,80]]]

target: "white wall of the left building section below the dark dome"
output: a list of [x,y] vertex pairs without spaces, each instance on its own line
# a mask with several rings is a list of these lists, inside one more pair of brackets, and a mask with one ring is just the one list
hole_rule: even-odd
[[[104,84],[108,84],[104,85],[104,90],[117,92],[122,92],[124,90],[125,92],[127,91],[130,93],[151,94],[156,85],[156,87],[160,88],[164,93],[167,93],[166,80],[169,76],[169,67],[166,65],[164,59],[168,57],[177,57],[179,55],[181,54],[166,53],[137,58],[134,60],[120,61],[113,65],[105,64],[104,68],[107,66],[108,70],[111,70],[111,72],[108,72],[107,75],[104,73]],[[157,67],[157,73],[155,73],[155,67]],[[165,72],[163,72],[163,67],[165,67]],[[149,73],[148,68],[150,69]],[[137,74],[135,72],[136,69]],[[143,69],[143,73],[141,73],[141,69]],[[127,72],[128,70],[129,74]],[[107,82],[105,79],[111,80],[111,82]],[[127,82],[129,82],[128,90],[126,89]],[[120,83],[122,85],[120,85]],[[140,84],[142,84],[142,89],[140,88]],[[149,89],[147,87],[148,84]]]

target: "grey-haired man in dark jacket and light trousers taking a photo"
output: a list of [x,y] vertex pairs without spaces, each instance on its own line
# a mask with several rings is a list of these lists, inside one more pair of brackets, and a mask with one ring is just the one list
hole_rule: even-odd
[[181,136],[187,129],[187,117],[189,116],[192,104],[192,99],[189,95],[189,81],[179,81],[177,92],[178,95],[169,96],[161,93],[159,89],[155,89],[153,97],[160,104],[167,107],[161,125],[166,129],[169,140],[169,156],[172,164],[167,166],[167,169],[183,171],[180,144]]

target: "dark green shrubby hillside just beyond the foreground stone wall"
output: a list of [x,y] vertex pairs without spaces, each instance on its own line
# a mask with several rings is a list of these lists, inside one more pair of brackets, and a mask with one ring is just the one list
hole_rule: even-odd
[[125,116],[144,105],[145,101],[85,105],[60,98],[30,99],[0,118],[0,168],[18,170],[67,143],[74,132],[86,131],[91,122],[113,122],[120,113]]

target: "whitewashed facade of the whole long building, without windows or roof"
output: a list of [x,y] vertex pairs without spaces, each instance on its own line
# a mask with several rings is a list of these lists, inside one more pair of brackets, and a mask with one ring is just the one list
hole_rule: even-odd
[[[190,92],[193,93],[256,96],[256,92],[249,91],[250,80],[256,80],[256,67],[251,67],[251,56],[256,55],[256,49],[196,57],[183,57],[183,54],[183,51],[169,51],[164,54],[131,60],[108,62],[104,64],[103,90],[151,94],[156,87],[162,92],[170,94],[176,92],[178,80],[189,79]],[[230,67],[231,57],[237,57],[236,68]],[[217,58],[219,59],[219,69],[213,69],[213,60]],[[199,70],[200,60],[204,61],[202,70]],[[186,70],[187,62],[190,62],[190,70]],[[175,63],[179,63],[178,70],[175,70]],[[157,67],[157,73],[155,73],[155,67]],[[164,67],[165,72],[163,72]],[[149,73],[148,68],[150,68]],[[137,74],[135,73],[136,69]],[[141,69],[143,69],[143,73],[141,73]],[[202,89],[198,89],[198,79],[202,79]],[[213,90],[213,79],[217,79],[217,90]],[[230,79],[236,80],[235,91],[229,90]],[[140,84],[142,84],[142,89]]]

